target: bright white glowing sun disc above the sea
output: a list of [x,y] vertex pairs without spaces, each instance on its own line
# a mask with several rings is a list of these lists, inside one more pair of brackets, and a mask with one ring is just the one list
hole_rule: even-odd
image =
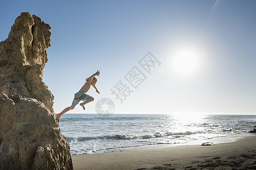
[[195,50],[180,50],[174,54],[172,69],[180,75],[192,75],[200,67],[200,54]]

